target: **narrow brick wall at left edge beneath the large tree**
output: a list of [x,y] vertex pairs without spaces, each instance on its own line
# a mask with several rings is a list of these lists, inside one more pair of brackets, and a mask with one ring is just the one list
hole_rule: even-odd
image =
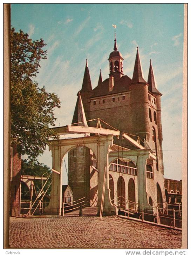
[[21,157],[17,153],[16,146],[13,146],[12,164],[13,176],[10,181],[10,215],[19,216]]

